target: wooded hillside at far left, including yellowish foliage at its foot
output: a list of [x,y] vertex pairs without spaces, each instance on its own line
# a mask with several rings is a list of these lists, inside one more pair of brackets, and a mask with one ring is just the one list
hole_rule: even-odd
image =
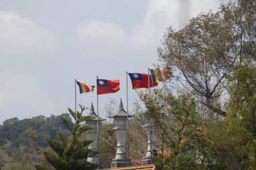
[[[61,117],[67,118],[72,123],[69,114],[51,115],[49,118],[37,116],[24,120],[18,118],[5,120],[3,125],[0,125],[0,164],[20,162],[26,154],[35,155],[34,147],[49,146],[46,138],[59,140],[58,132],[68,136],[70,132]],[[32,132],[34,138],[29,132]]]

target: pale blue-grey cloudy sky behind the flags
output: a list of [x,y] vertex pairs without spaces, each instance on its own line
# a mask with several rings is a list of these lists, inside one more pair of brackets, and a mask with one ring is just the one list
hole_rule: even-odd
[[[126,108],[126,71],[147,73],[168,26],[183,28],[227,0],[0,0],[0,124],[75,108],[74,79],[96,85],[120,79],[121,90],[99,95]],[[136,97],[129,80],[129,103]],[[86,107],[96,93],[79,95]],[[130,110],[130,109],[129,109]]]

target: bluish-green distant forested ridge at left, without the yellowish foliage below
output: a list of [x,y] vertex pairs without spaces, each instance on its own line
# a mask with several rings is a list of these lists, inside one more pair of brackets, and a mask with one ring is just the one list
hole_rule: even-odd
[[0,125],[0,142],[3,145],[9,140],[16,148],[21,145],[29,146],[30,138],[27,130],[32,128],[33,130],[40,132],[36,144],[43,147],[49,146],[46,142],[46,138],[59,139],[59,136],[57,135],[59,130],[66,135],[70,134],[62,121],[62,117],[65,117],[69,122],[72,122],[69,114],[61,114],[59,116],[52,115],[50,118],[37,116],[24,120],[18,120],[18,118],[5,120],[3,125]]

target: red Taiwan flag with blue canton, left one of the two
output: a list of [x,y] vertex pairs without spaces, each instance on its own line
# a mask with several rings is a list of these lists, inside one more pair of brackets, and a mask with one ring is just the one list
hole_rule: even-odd
[[115,93],[119,91],[119,80],[97,79],[97,95]]

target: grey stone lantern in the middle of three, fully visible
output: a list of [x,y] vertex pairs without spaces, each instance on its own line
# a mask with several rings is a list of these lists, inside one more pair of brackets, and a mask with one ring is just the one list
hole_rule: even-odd
[[120,100],[119,111],[117,114],[113,116],[108,116],[108,118],[114,118],[113,130],[117,133],[117,153],[115,159],[112,160],[111,168],[118,168],[118,167],[128,167],[129,166],[129,158],[127,157],[127,153],[125,150],[125,142],[127,137],[127,126],[129,122],[127,122],[128,118],[133,116],[127,115],[127,112],[123,109],[123,102],[122,99]]

